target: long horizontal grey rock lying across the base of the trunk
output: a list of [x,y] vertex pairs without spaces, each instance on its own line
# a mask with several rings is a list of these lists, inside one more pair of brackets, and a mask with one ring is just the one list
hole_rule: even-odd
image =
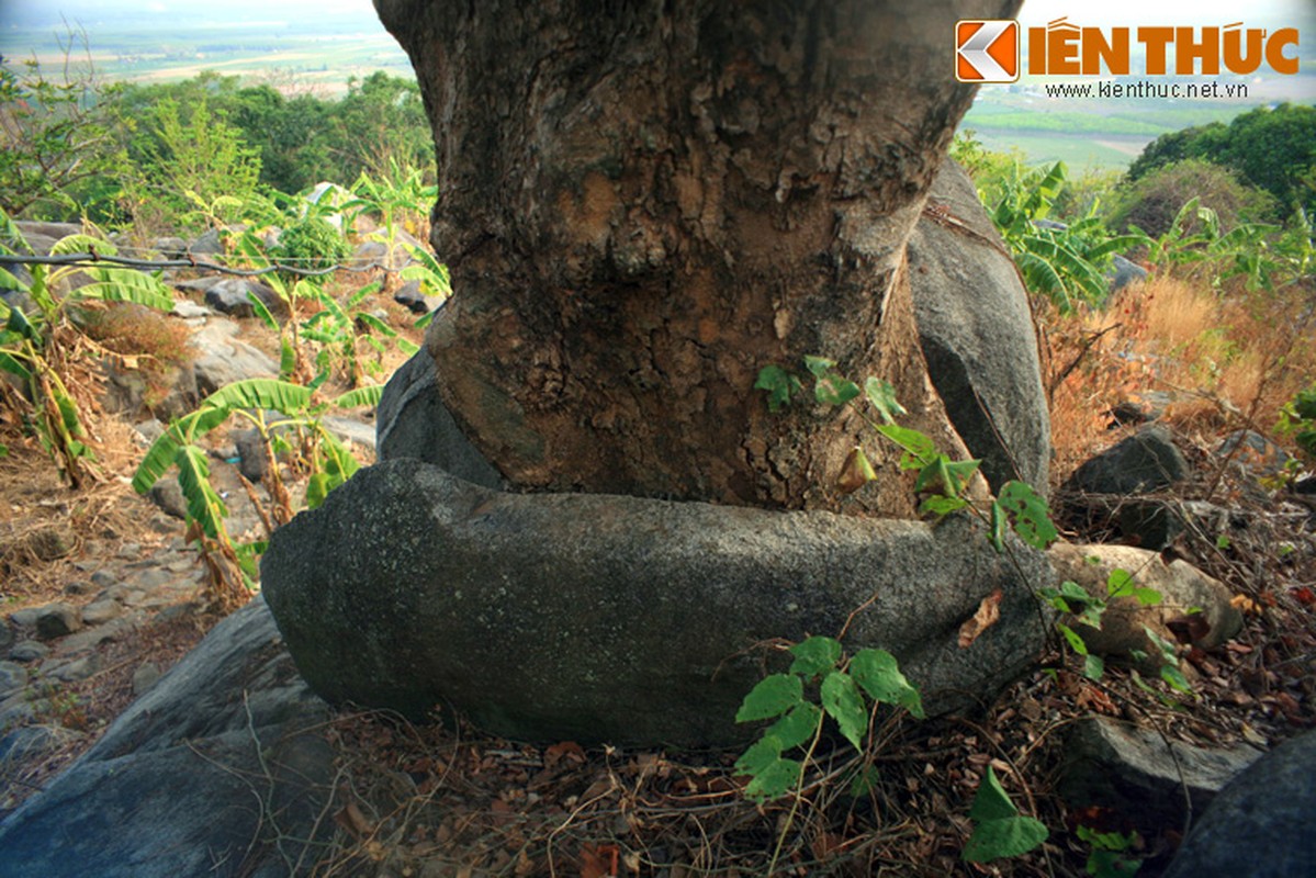
[[[1045,638],[1021,573],[966,520],[938,527],[591,494],[505,494],[413,458],[361,470],[274,534],[270,608],[332,702],[451,706],[519,740],[733,745],[763,646],[849,627],[930,712],[990,696]],[[1025,582],[1026,578],[1026,582]],[[967,649],[962,623],[1001,588]],[[771,653],[769,666],[780,661]]]

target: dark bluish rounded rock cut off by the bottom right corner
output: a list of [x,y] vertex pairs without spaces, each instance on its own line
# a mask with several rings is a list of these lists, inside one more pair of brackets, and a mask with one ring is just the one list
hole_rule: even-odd
[[1165,878],[1316,875],[1316,732],[1242,771],[1194,824]]

